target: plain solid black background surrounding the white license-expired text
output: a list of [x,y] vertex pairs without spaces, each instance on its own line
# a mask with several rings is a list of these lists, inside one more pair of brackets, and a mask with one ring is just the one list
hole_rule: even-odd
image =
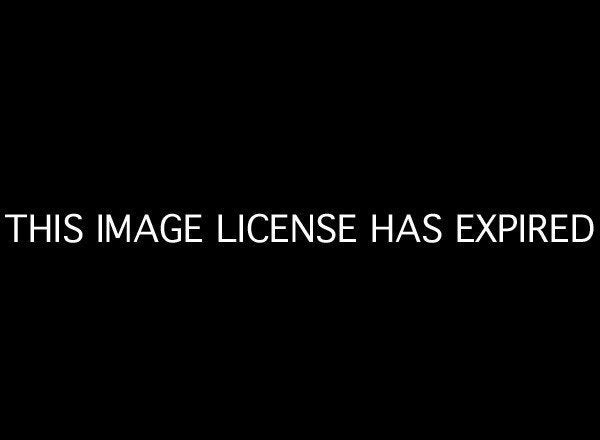
[[[453,218],[597,221],[592,29],[523,11],[247,12],[30,11],[3,56],[2,213],[356,212],[361,243],[5,240],[12,413],[572,429],[594,389],[597,238],[460,246]],[[368,244],[371,213],[428,212],[447,221],[440,245]]]

